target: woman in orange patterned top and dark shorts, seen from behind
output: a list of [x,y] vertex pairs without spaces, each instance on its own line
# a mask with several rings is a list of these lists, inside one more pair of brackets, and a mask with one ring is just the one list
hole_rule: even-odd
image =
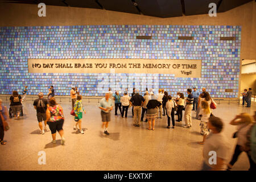
[[63,109],[56,103],[55,98],[53,97],[49,100],[49,107],[46,110],[46,121],[52,133],[52,143],[56,143],[56,131],[58,131],[61,137],[61,144],[64,145]]

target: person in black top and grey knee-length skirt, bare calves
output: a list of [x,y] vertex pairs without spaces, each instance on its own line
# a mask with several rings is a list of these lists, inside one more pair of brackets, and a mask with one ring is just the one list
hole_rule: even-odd
[[158,116],[157,108],[162,105],[161,102],[155,99],[154,93],[150,92],[150,100],[147,103],[147,120],[148,120],[148,130],[151,130],[151,121],[152,121],[152,130],[155,130],[155,118]]

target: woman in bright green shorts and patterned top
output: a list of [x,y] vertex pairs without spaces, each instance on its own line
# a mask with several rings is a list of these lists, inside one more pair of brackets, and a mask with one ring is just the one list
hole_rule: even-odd
[[84,134],[84,131],[82,131],[82,112],[84,111],[85,114],[85,110],[84,110],[84,106],[82,106],[82,96],[78,95],[77,96],[77,100],[75,102],[74,105],[74,111],[75,111],[75,121],[76,121],[76,125],[74,126],[74,130],[78,130],[77,128],[77,124],[79,124],[79,129],[80,129],[80,133]]

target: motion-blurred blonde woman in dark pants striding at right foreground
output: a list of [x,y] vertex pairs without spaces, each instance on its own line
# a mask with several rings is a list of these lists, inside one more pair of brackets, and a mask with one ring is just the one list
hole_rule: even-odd
[[255,169],[255,163],[251,159],[251,155],[249,151],[245,150],[246,148],[246,134],[254,124],[253,119],[251,118],[250,114],[248,113],[241,113],[240,115],[236,115],[236,117],[230,122],[230,125],[238,126],[238,131],[234,133],[233,138],[237,138],[237,145],[234,150],[233,158],[228,164],[228,170],[232,169],[234,163],[237,162],[238,156],[245,151],[250,162],[250,169]]

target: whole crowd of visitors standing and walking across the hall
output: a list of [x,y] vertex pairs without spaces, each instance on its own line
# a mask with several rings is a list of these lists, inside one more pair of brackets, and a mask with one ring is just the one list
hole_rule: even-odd
[[[24,88],[23,98],[19,96],[18,92],[13,91],[10,97],[10,110],[13,112],[14,116],[18,118],[20,112],[22,111],[22,102],[26,97],[27,87]],[[79,93],[77,87],[72,86],[71,89],[71,101],[72,101],[72,111],[71,114],[74,115],[74,130],[80,130],[81,134],[84,134],[82,130],[82,115],[86,114],[85,108],[82,105],[82,96]],[[245,102],[247,106],[250,106],[251,89],[248,92],[242,93],[246,97]],[[247,97],[249,96],[249,97]],[[61,144],[65,143],[64,139],[64,113],[63,108],[57,104],[55,100],[55,93],[53,86],[49,88],[47,98],[43,97],[43,93],[38,94],[38,99],[34,101],[34,109],[36,110],[36,116],[39,122],[39,128],[41,134],[45,131],[51,130],[52,143],[56,143],[56,133],[58,132],[61,137]],[[245,104],[243,102],[243,104]],[[5,131],[7,131],[7,109],[2,105],[2,100],[0,100],[0,142],[2,145],[6,144],[3,140]],[[147,130],[155,130],[155,119],[162,118],[167,115],[167,129],[171,128],[172,119],[172,129],[175,129],[175,122],[182,122],[183,110],[184,110],[184,123],[183,127],[189,129],[192,127],[192,110],[196,111],[196,119],[200,122],[200,133],[203,135],[203,140],[198,142],[199,144],[204,144],[204,164],[203,169],[214,169],[222,170],[227,167],[228,170],[232,169],[234,163],[236,163],[238,156],[241,152],[245,151],[250,162],[250,170],[255,170],[255,148],[254,151],[250,147],[251,131],[255,131],[255,122],[251,119],[250,115],[247,113],[242,113],[234,118],[230,125],[237,125],[238,131],[234,134],[233,138],[238,138],[237,146],[234,150],[234,155],[232,160],[228,163],[228,150],[229,144],[225,135],[221,132],[224,124],[222,120],[215,117],[212,114],[212,110],[216,109],[217,104],[210,97],[210,94],[205,88],[202,89],[200,93],[196,88],[187,89],[187,97],[184,94],[177,92],[176,98],[168,95],[168,92],[164,89],[159,89],[158,94],[155,94],[152,89],[144,91],[144,96],[139,94],[138,89],[133,89],[131,96],[127,93],[127,90],[120,96],[119,92],[113,94],[112,90],[106,92],[105,97],[100,101],[99,109],[101,110],[102,118],[102,130],[103,133],[109,135],[108,127],[111,121],[110,112],[115,107],[115,116],[118,115],[118,110],[122,118],[127,118],[127,111],[129,107],[132,107],[133,114],[133,125],[135,127],[140,127],[141,122],[147,122]],[[176,112],[176,114],[175,114]],[[146,115],[146,117],[144,117]],[[175,115],[177,115],[177,120],[175,121]],[[256,112],[254,115],[254,120],[256,119]],[[43,125],[44,122],[44,125]],[[79,126],[79,128],[77,127]],[[217,152],[217,164],[209,163],[209,152]]]

